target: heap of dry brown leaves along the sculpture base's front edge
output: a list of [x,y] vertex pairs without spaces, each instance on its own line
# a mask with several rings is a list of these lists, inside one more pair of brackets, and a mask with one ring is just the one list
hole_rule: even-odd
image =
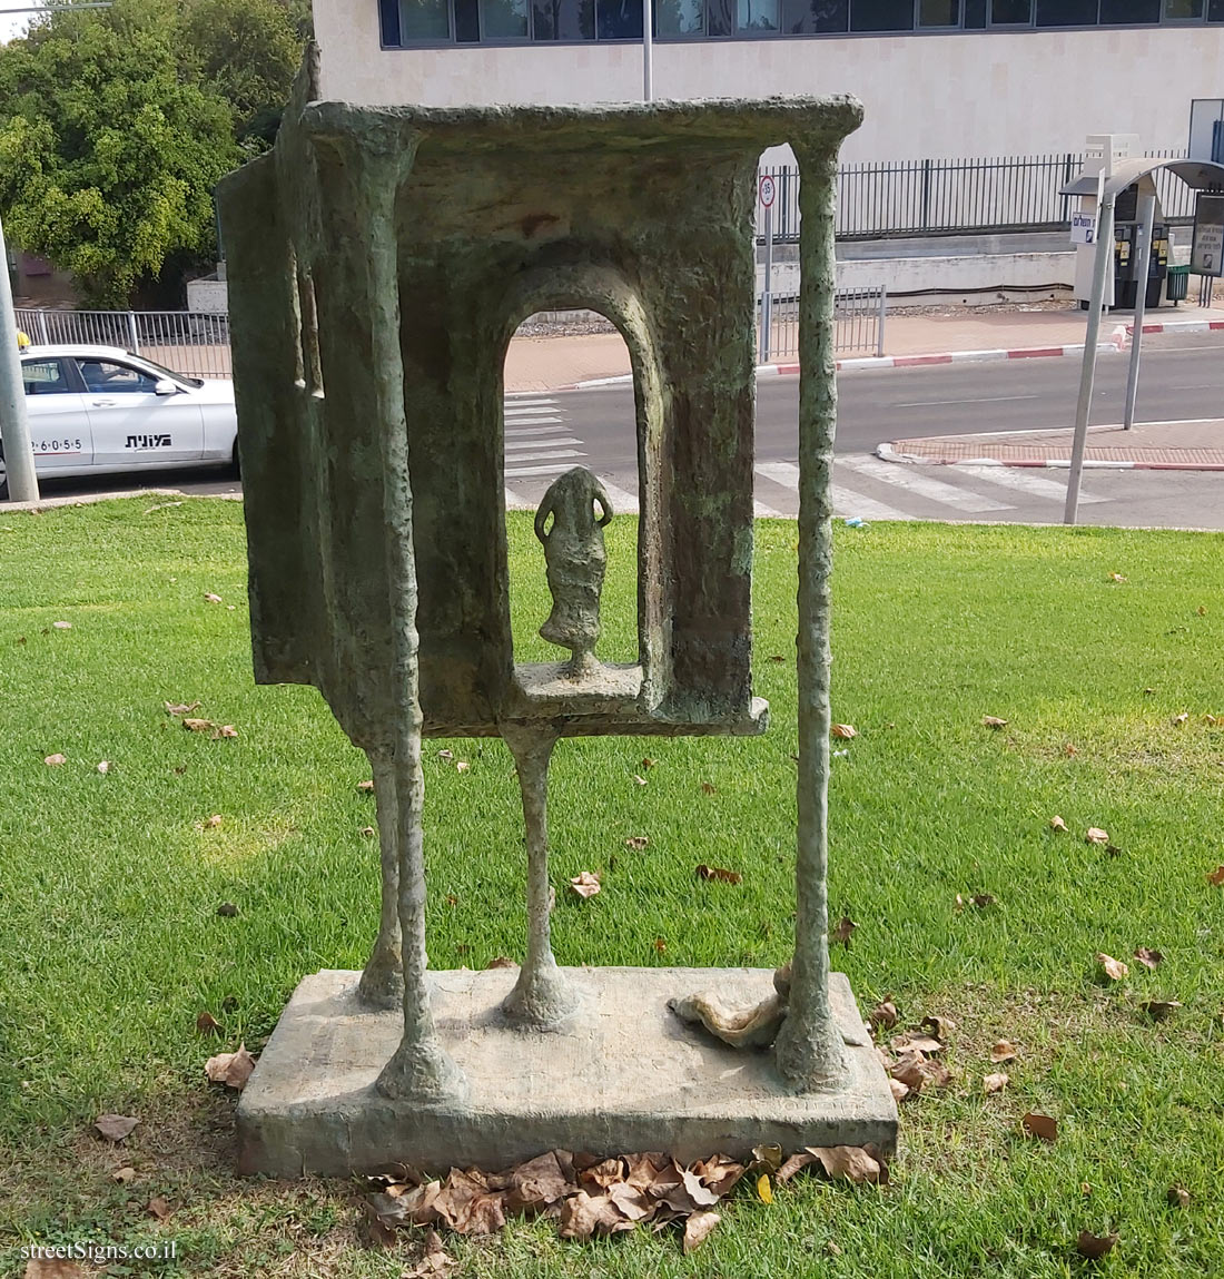
[[714,1155],[683,1166],[657,1152],[597,1159],[551,1150],[504,1173],[453,1168],[443,1181],[405,1172],[399,1179],[372,1178],[380,1188],[366,1197],[379,1228],[441,1225],[459,1234],[491,1234],[508,1216],[553,1218],[564,1239],[616,1234],[638,1225],[661,1230],[683,1225],[684,1251],[692,1252],[719,1224],[712,1211],[746,1174],[757,1182],[757,1196],[769,1202],[770,1182],[788,1181],[815,1164],[829,1177],[884,1182],[888,1170],[871,1151],[835,1146],[806,1151],[785,1164],[781,1150],[762,1146],[751,1163]]

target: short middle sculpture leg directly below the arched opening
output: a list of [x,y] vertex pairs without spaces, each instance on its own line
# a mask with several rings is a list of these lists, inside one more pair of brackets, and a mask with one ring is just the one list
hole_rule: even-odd
[[514,756],[527,830],[527,954],[503,1007],[512,1021],[547,1030],[578,1007],[578,994],[556,967],[549,938],[549,761],[556,733],[508,724],[501,737]]

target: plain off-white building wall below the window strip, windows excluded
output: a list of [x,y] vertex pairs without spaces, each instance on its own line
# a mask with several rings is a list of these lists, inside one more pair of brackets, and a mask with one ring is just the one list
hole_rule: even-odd
[[[637,45],[380,50],[376,8],[315,0],[325,97],[437,106],[641,97]],[[1078,151],[1087,133],[1184,146],[1189,100],[1221,86],[1221,27],[655,45],[659,98],[856,93],[867,114],[845,160]]]

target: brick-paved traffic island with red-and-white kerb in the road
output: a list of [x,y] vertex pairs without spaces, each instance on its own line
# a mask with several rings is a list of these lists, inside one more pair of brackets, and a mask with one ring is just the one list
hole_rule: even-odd
[[[918,436],[881,444],[886,462],[927,466],[1058,467],[1071,464],[1071,428]],[[1224,471],[1224,420],[1090,426],[1085,467],[1127,471]]]

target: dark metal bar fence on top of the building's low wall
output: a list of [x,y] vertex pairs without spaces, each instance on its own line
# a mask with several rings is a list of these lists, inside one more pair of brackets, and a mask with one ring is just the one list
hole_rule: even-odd
[[[1175,160],[1184,150],[1150,152]],[[1001,156],[985,160],[891,160],[838,169],[838,239],[940,235],[973,231],[1059,230],[1071,223],[1077,197],[1059,194],[1083,168],[1082,152]],[[773,177],[774,239],[799,238],[799,173],[764,166]],[[1166,221],[1188,221],[1195,192],[1168,169],[1155,174]],[[757,234],[762,234],[758,225]]]

